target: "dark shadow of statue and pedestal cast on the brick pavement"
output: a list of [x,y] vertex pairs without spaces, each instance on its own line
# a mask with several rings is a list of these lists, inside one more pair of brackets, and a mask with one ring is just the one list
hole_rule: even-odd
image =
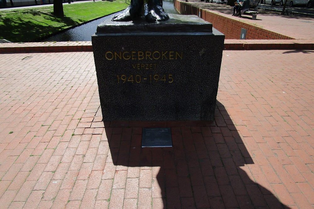
[[[173,147],[141,148],[142,127],[171,127]],[[253,180],[254,162],[218,101],[214,122],[110,122],[105,131],[116,172],[139,167],[138,192],[149,191],[153,208],[289,208]]]

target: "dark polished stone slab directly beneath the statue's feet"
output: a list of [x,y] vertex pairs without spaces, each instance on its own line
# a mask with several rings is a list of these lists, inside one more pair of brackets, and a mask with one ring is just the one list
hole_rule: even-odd
[[129,22],[111,21],[108,17],[98,25],[96,35],[129,33],[212,33],[213,24],[196,15],[169,14],[164,22],[147,23],[144,17]]

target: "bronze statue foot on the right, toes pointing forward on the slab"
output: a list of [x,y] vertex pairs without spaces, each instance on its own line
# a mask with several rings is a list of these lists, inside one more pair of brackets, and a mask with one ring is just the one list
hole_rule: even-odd
[[149,23],[156,21],[166,21],[169,19],[167,13],[162,8],[162,0],[149,0],[148,14],[146,15],[146,21]]

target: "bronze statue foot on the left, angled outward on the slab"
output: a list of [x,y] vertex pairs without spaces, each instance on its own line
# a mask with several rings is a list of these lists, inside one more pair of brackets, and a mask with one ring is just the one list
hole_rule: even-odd
[[123,22],[130,21],[133,18],[141,17],[143,4],[143,0],[131,0],[131,4],[121,13],[114,16],[111,21]]

